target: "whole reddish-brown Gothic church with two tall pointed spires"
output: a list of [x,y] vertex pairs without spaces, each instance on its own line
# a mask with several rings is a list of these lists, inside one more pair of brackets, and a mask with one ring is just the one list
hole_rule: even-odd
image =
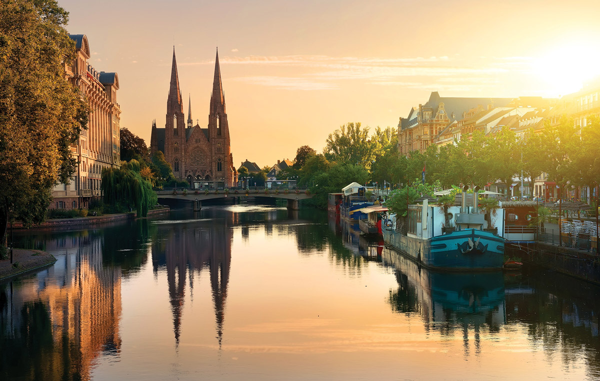
[[191,119],[191,99],[187,122],[184,119],[179,76],[173,48],[173,65],[167,114],[164,128],[152,123],[150,150],[164,153],[164,158],[173,168],[173,175],[179,180],[187,180],[194,188],[232,187],[238,181],[238,173],[233,166],[229,123],[225,108],[225,95],[221,83],[219,54],[215,59],[215,74],[212,83],[208,125],[201,128],[193,125]]

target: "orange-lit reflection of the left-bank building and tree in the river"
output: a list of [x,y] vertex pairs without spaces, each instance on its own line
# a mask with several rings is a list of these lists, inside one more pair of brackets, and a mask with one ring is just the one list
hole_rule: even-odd
[[0,285],[0,379],[90,379],[101,355],[121,352],[121,268],[103,265],[103,235],[68,232],[36,242],[57,261]]

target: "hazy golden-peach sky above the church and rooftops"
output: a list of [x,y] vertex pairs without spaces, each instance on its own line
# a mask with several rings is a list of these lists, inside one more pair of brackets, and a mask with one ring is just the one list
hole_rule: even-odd
[[59,0],[90,63],[117,72],[121,127],[162,127],[173,46],[187,119],[208,124],[218,47],[233,162],[321,152],[440,96],[559,97],[600,75],[600,2]]

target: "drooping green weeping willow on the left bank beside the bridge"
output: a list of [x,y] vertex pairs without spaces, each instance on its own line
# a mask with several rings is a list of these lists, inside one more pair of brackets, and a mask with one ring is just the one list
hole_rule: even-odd
[[140,175],[140,163],[133,159],[121,168],[102,171],[104,204],[134,205],[138,217],[148,216],[148,209],[158,201],[152,185]]

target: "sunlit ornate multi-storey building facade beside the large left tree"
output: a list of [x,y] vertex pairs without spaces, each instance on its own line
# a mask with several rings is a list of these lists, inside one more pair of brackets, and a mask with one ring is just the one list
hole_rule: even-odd
[[89,101],[88,129],[83,129],[71,153],[79,165],[69,184],[55,186],[50,208],[87,207],[92,196],[100,195],[104,168],[118,167],[120,158],[119,120],[121,108],[116,102],[119,76],[116,72],[98,72],[90,58],[85,34],[69,35],[75,41],[76,56],[65,62],[67,80],[79,87]]

